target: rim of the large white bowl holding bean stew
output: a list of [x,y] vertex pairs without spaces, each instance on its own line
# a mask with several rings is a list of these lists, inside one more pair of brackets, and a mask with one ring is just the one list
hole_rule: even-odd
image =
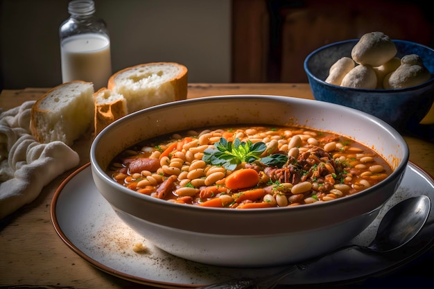
[[[272,207],[272,208],[261,208],[261,209],[236,210],[236,209],[227,209],[227,208],[200,207],[200,206],[192,206],[192,205],[185,206],[182,204],[167,202],[166,200],[160,200],[158,198],[151,198],[148,195],[139,194],[135,191],[132,191],[131,189],[126,188],[125,186],[122,186],[121,184],[114,182],[110,178],[110,176],[107,175],[107,173],[105,173],[104,169],[101,168],[101,166],[98,164],[98,161],[96,160],[96,148],[98,146],[98,143],[101,141],[101,139],[105,135],[105,133],[112,130],[112,128],[116,127],[117,125],[124,123],[125,121],[128,121],[129,119],[136,118],[141,114],[146,114],[146,112],[152,112],[154,110],[164,110],[167,107],[177,107],[177,106],[189,104],[189,103],[209,103],[209,102],[212,103],[214,101],[222,101],[222,100],[228,100],[228,99],[229,99],[229,101],[230,100],[234,100],[234,101],[238,100],[239,101],[242,98],[247,98],[247,97],[253,98],[253,99],[258,99],[258,98],[260,98],[260,99],[267,99],[268,98],[269,99],[269,98],[271,98],[272,100],[279,100],[279,101],[284,101],[284,99],[290,99],[291,101],[296,102],[296,103],[300,103],[302,105],[305,105],[305,104],[320,105],[322,108],[325,108],[326,110],[327,110],[327,107],[339,107],[340,109],[347,110],[347,111],[353,112],[355,114],[360,114],[362,116],[362,118],[365,119],[366,121],[373,123],[374,125],[377,125],[377,126],[383,128],[384,130],[387,130],[391,134],[391,136],[394,137],[394,139],[397,139],[397,141],[399,141],[399,143],[402,144],[402,146],[400,146],[402,148],[402,151],[403,151],[402,158],[399,161],[399,164],[396,166],[396,168],[394,168],[394,170],[392,171],[392,174],[389,177],[396,177],[397,175],[402,174],[403,171],[406,169],[410,152],[409,152],[408,145],[407,145],[405,139],[403,139],[401,134],[395,128],[393,128],[391,125],[389,125],[385,121],[377,118],[376,116],[372,116],[372,115],[367,114],[365,112],[355,110],[351,107],[345,107],[344,105],[338,105],[338,104],[334,104],[334,103],[324,103],[322,101],[313,100],[313,99],[295,98],[295,97],[291,97],[291,96],[238,94],[238,95],[223,95],[223,96],[205,96],[205,97],[201,97],[201,98],[190,98],[190,99],[186,99],[186,100],[177,100],[175,102],[164,103],[161,105],[155,105],[153,107],[148,107],[148,108],[145,108],[143,110],[139,110],[137,112],[132,112],[131,114],[128,114],[127,116],[124,116],[123,118],[121,118],[117,121],[114,121],[110,125],[107,125],[107,127],[104,128],[92,141],[90,152],[89,152],[89,159],[90,159],[90,163],[91,163],[91,167],[92,167],[92,174],[96,173],[100,177],[100,179],[102,177],[105,180],[105,182],[110,184],[110,186],[122,191],[123,193],[126,193],[129,196],[132,196],[132,198],[139,198],[141,200],[145,200],[146,202],[153,202],[154,204],[159,204],[160,206],[164,206],[164,207],[166,207],[166,206],[167,207],[173,207],[173,208],[176,208],[176,209],[181,210],[181,211],[183,211],[183,210],[189,210],[189,211],[192,210],[192,211],[198,211],[198,212],[204,211],[204,210],[205,211],[215,211],[215,212],[221,211],[221,212],[225,212],[227,214],[233,215],[233,216],[241,216],[241,215],[242,216],[248,216],[248,215],[252,215],[252,214],[257,216],[257,214],[261,214],[261,213],[272,212],[275,214],[279,214],[279,213],[284,213],[287,211],[300,211],[300,210],[309,211],[309,210],[314,209],[316,207],[321,207],[321,208],[327,209],[329,207],[338,206],[341,202],[346,202],[346,200],[363,198],[363,196],[366,194],[372,194],[373,193],[372,191],[374,189],[377,190],[377,189],[381,189],[384,186],[387,186],[387,182],[380,182],[379,184],[376,184],[375,186],[367,188],[365,191],[363,191],[361,193],[356,193],[354,195],[347,195],[345,198],[339,198],[339,199],[333,200],[331,202],[315,202],[313,204],[306,204],[306,205],[294,206],[294,207]],[[379,152],[379,151],[376,150],[376,152]],[[383,157],[385,157],[385,156],[383,156]]]

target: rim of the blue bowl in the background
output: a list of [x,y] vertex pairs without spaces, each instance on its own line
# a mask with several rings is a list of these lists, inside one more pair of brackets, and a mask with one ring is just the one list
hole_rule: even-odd
[[[330,87],[331,89],[344,89],[347,91],[358,91],[358,92],[372,92],[375,91],[376,94],[390,94],[391,92],[405,92],[405,91],[413,91],[415,88],[420,89],[420,88],[424,88],[427,87],[429,85],[432,85],[434,82],[434,76],[433,73],[431,73],[431,79],[420,84],[420,85],[415,85],[413,87],[405,87],[405,88],[400,88],[400,89],[364,89],[364,88],[354,88],[354,87],[342,87],[340,85],[332,85],[330,83],[325,82],[324,80],[321,80],[320,78],[316,77],[312,71],[309,69],[309,60],[311,60],[311,58],[313,58],[313,56],[320,52],[323,51],[324,49],[329,49],[332,46],[338,46],[341,44],[347,44],[350,42],[354,42],[354,44],[356,44],[358,42],[359,39],[350,39],[350,40],[342,40],[342,41],[338,41],[338,42],[333,42],[330,44],[326,44],[324,46],[319,47],[318,49],[315,49],[314,51],[312,51],[311,53],[309,53],[309,55],[306,56],[306,58],[304,59],[303,62],[303,67],[304,67],[304,71],[306,72],[307,76],[309,78],[312,78],[313,80],[315,80],[316,82],[320,82],[322,85],[324,85],[325,87]],[[417,46],[421,46],[424,49],[428,49],[430,51],[432,51],[434,53],[434,49],[432,49],[429,46],[426,46],[424,44],[419,44],[417,42],[411,42],[408,40],[392,40],[392,42],[394,43],[404,43],[404,44],[412,44],[412,45],[417,45]]]

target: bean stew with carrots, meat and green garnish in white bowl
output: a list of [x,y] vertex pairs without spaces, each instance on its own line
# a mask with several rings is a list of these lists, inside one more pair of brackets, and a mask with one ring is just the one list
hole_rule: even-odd
[[124,150],[107,173],[155,198],[254,209],[327,202],[374,186],[392,168],[348,137],[311,128],[204,128]]

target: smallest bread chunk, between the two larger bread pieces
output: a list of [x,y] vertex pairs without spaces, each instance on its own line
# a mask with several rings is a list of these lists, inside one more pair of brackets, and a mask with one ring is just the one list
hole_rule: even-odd
[[94,93],[95,115],[94,127],[95,135],[103,128],[110,125],[113,121],[120,119],[128,114],[127,102],[122,94],[103,87]]

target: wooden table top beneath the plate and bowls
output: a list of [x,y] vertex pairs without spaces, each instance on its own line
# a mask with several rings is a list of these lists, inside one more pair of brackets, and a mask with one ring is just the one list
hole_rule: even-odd
[[[3,90],[0,107],[8,110],[26,100],[37,100],[46,88]],[[308,84],[191,84],[188,98],[227,94],[266,94],[313,98]],[[434,175],[434,143],[404,136],[410,147],[410,161]],[[82,166],[89,161],[90,140],[74,143]],[[73,169],[74,170],[74,169]],[[51,198],[70,170],[48,184],[39,197],[0,221],[0,288],[151,288],[125,281],[89,265],[75,254],[56,234],[50,217]],[[432,275],[422,275],[434,265],[434,250],[387,280],[408,277],[416,282]],[[385,284],[387,285],[387,284]],[[434,285],[434,283],[433,283]],[[413,283],[417,286],[417,283]]]

